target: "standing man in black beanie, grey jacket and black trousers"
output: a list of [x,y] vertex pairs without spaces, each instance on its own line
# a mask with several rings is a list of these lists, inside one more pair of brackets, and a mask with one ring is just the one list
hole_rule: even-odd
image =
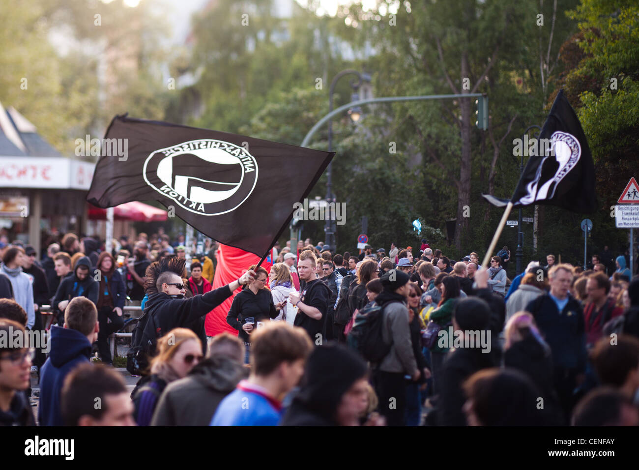
[[[375,298],[375,303],[382,309],[382,338],[391,346],[389,354],[373,370],[373,383],[380,399],[380,414],[387,419],[389,426],[403,426],[406,420],[404,377],[414,381],[421,377],[410,339],[406,306],[410,293],[409,279],[410,276],[403,271],[390,270],[381,276],[383,291]],[[396,407],[389,406],[392,402]]]

